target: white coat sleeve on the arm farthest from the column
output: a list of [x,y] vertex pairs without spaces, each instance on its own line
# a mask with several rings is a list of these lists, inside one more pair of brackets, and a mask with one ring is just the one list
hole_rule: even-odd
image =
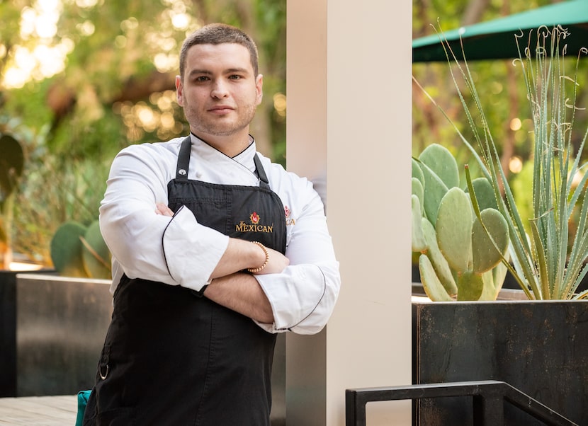
[[174,171],[174,161],[175,156],[166,158],[148,145],[121,151],[111,166],[100,207],[100,228],[128,277],[198,291],[225,252],[229,238],[198,224],[189,209],[181,208],[171,218],[155,213],[157,202],[167,205],[170,177],[166,173]]

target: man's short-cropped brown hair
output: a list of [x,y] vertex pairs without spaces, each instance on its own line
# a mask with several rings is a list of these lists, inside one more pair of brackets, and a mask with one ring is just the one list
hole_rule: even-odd
[[251,66],[253,67],[254,76],[259,73],[258,53],[255,42],[249,35],[239,30],[237,27],[225,23],[211,23],[204,25],[202,28],[188,35],[180,50],[180,76],[183,80],[183,73],[186,67],[186,56],[188,50],[194,45],[220,45],[222,43],[237,43],[247,47],[249,57],[251,57]]

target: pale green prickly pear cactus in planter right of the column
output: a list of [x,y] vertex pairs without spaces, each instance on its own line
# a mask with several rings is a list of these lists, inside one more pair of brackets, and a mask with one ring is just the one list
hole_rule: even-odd
[[443,146],[412,159],[412,251],[420,253],[422,284],[435,301],[494,300],[507,273],[507,221],[487,179],[472,183],[481,222],[458,185],[456,160]]

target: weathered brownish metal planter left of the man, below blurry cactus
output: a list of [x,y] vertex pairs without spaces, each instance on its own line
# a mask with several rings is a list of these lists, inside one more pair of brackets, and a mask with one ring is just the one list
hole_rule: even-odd
[[16,396],[74,395],[94,384],[112,313],[110,280],[16,277]]

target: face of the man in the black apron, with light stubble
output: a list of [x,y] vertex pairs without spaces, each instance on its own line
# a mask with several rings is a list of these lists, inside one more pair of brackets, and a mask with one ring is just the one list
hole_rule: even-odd
[[207,142],[247,137],[261,103],[261,75],[255,76],[249,50],[235,43],[194,45],[186,56],[183,81],[176,77],[178,103],[191,131]]

